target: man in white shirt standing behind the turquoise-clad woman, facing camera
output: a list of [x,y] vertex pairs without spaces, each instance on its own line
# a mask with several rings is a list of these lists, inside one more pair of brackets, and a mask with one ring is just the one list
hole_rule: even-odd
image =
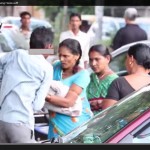
[[62,42],[63,40],[67,38],[78,40],[82,49],[81,61],[83,61],[83,62],[80,62],[80,66],[87,68],[88,62],[89,62],[88,52],[90,48],[89,47],[90,38],[85,32],[82,32],[80,30],[81,23],[82,23],[81,15],[78,13],[72,13],[70,15],[70,22],[69,22],[70,29],[60,34],[59,42]]

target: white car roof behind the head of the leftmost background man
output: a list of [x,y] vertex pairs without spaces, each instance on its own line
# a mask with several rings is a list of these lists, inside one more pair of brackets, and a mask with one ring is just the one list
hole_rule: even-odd
[[[20,26],[21,26],[20,17],[14,17],[14,16],[3,17],[1,19],[1,23],[14,24],[14,25],[18,26],[18,28],[20,28]],[[31,24],[30,24],[31,30],[34,30],[35,28],[37,28],[39,26],[45,26],[47,28],[51,28],[52,31],[54,31],[52,25],[48,21],[32,17]]]

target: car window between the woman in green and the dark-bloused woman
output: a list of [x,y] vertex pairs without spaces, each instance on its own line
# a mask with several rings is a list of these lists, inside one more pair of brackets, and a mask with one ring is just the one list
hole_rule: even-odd
[[116,57],[113,57],[109,66],[114,72],[126,70],[126,67],[125,67],[126,54],[127,52],[124,52],[124,53],[120,53]]

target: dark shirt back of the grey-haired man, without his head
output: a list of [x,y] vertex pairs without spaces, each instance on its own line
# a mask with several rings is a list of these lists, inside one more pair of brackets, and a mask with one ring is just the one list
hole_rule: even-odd
[[113,49],[116,50],[123,45],[142,40],[147,40],[146,32],[137,24],[126,24],[117,32],[113,40]]

